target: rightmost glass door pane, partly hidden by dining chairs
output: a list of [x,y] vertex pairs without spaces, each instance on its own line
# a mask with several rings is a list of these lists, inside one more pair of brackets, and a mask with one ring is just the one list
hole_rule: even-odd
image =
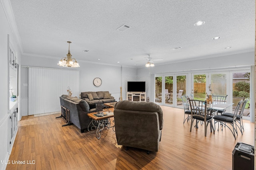
[[[240,100],[250,98],[250,72],[234,72],[232,77],[232,103],[234,103],[233,109],[236,109]],[[243,119],[250,119],[250,101],[244,108]]]

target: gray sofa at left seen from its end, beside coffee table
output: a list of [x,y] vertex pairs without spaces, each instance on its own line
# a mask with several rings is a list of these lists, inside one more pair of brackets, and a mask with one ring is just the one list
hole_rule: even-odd
[[92,118],[88,117],[87,113],[96,111],[95,103],[86,102],[85,100],[68,95],[60,96],[60,105],[69,109],[70,121],[81,130],[81,133],[87,129],[92,120]]

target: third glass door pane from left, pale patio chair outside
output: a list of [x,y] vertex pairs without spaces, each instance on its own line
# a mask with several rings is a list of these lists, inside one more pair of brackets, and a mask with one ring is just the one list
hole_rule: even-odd
[[176,106],[182,105],[181,96],[186,94],[186,75],[176,76]]

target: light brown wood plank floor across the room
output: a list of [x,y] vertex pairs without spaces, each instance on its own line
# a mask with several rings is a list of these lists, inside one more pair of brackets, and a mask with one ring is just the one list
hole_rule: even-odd
[[[34,164],[8,164],[7,170],[231,170],[232,150],[237,142],[254,145],[254,123],[244,121],[244,135],[237,139],[228,128],[204,137],[204,128],[192,128],[184,123],[183,109],[162,106],[164,128],[158,152],[117,145],[112,129],[104,129],[98,140],[95,133],[80,133],[74,125],[62,127],[64,121],[45,115],[25,116],[18,123],[10,162],[27,161]],[[127,129],[129,130],[129,129]],[[34,160],[34,161],[33,161]]]

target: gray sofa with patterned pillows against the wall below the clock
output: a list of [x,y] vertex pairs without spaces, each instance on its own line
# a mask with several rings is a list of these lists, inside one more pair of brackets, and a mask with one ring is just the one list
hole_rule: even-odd
[[[93,100],[90,100],[88,98],[88,94],[92,94]],[[115,102],[115,99],[113,96],[108,96],[104,94],[109,94],[108,91],[98,91],[98,92],[82,92],[81,93],[81,99],[90,101],[90,102],[95,102],[96,104],[104,104],[104,103],[110,103],[110,102]],[[110,94],[111,95],[111,94]],[[109,98],[107,98],[108,96]]]

